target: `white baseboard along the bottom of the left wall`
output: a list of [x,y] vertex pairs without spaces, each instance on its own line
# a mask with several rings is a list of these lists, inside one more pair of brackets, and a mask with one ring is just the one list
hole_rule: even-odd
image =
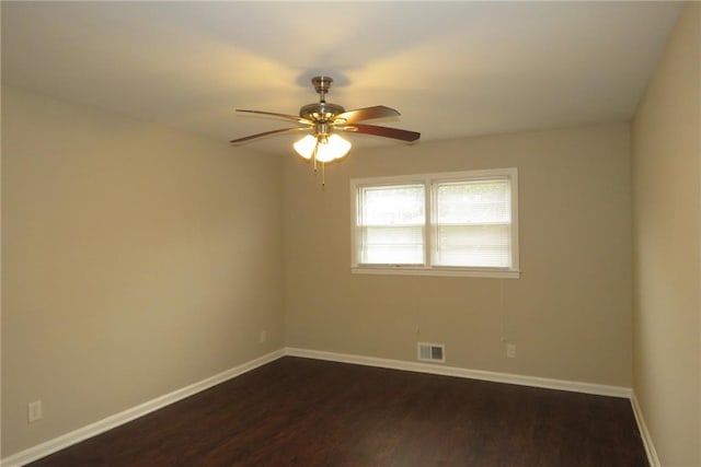
[[271,352],[195,384],[191,384],[189,386],[185,386],[170,394],[157,397],[156,399],[151,399],[123,412],[115,413],[95,423],[79,428],[78,430],[71,431],[70,433],[66,433],[42,444],[37,444],[36,446],[32,446],[28,450],[21,451],[12,456],[2,459],[0,462],[0,465],[2,465],[3,467],[19,467],[32,463],[42,457],[48,456],[49,454],[54,454],[60,450],[71,446],[76,443],[80,443],[81,441],[84,441],[89,437],[96,436],[97,434],[104,433],[105,431],[127,423],[134,419],[143,417],[145,415],[153,412],[173,402],[177,402],[179,400],[200,393],[205,389],[216,386],[217,384],[234,378],[243,373],[250,372],[251,370],[254,370],[281,357],[285,357],[284,350]]

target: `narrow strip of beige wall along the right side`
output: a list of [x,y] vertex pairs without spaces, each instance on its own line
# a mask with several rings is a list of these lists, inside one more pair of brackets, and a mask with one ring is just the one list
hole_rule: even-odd
[[664,466],[701,465],[701,4],[633,124],[634,390]]

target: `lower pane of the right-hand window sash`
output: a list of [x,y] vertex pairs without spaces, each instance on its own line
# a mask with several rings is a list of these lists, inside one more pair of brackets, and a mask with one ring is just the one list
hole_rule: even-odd
[[512,266],[510,226],[439,225],[436,229],[436,266]]

